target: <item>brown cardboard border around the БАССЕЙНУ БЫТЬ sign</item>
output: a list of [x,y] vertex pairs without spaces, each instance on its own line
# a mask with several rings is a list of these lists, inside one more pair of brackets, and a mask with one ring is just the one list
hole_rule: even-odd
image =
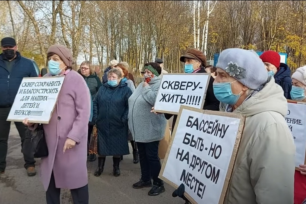
[[[227,193],[228,188],[229,188],[229,183],[230,183],[230,180],[231,180],[231,177],[232,177],[232,174],[233,174],[233,169],[234,169],[234,165],[235,165],[235,162],[236,162],[237,153],[238,153],[240,143],[241,143],[241,138],[242,138],[243,131],[244,131],[244,126],[245,126],[245,116],[242,116],[242,115],[236,114],[236,113],[203,110],[203,109],[197,109],[197,108],[190,107],[190,106],[181,105],[180,111],[179,111],[178,116],[177,116],[177,121],[176,121],[175,126],[174,126],[173,134],[171,136],[169,147],[167,149],[165,159],[162,162],[162,169],[160,170],[160,173],[159,173],[159,178],[161,180],[165,181],[167,184],[170,184],[174,188],[178,188],[178,185],[174,184],[173,182],[171,182],[167,178],[163,177],[162,175],[164,173],[166,163],[168,161],[168,157],[169,157],[169,154],[170,154],[170,150],[171,150],[174,138],[176,136],[177,126],[179,124],[183,109],[187,109],[187,110],[191,110],[191,111],[195,111],[195,112],[203,113],[203,114],[207,114],[207,115],[217,115],[217,116],[225,116],[225,117],[232,117],[232,118],[240,119],[240,124],[239,124],[239,128],[238,128],[238,131],[237,131],[237,137],[236,137],[236,141],[235,141],[235,144],[234,144],[233,153],[232,153],[232,156],[231,156],[231,159],[230,159],[229,168],[227,169],[227,172],[226,172],[226,177],[225,177],[225,180],[224,180],[221,196],[220,196],[219,202],[218,202],[218,204],[223,204],[224,200],[226,198],[226,193]],[[193,198],[191,198],[191,196],[188,195],[186,192],[184,192],[184,195],[185,195],[186,198],[188,198],[188,200],[192,204],[197,204],[197,202]]]

